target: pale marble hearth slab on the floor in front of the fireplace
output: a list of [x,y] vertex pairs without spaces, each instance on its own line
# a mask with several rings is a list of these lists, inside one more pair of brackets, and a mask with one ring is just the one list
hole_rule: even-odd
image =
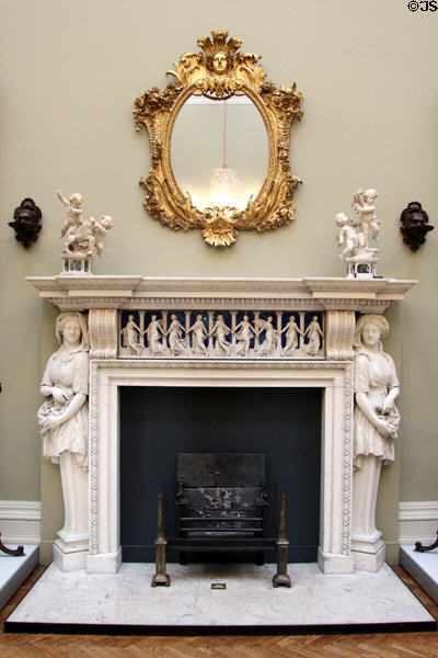
[[[53,564],[10,615],[5,629],[66,625],[122,627],[341,627],[436,629],[434,617],[388,565],[377,574],[322,574],[288,567],[292,587],[272,587],[274,565],[168,565],[171,587],[151,587],[154,565],[123,564],[117,575],[62,572]],[[227,589],[211,589],[224,582]],[[424,628],[423,628],[424,626]],[[99,632],[99,631],[97,631]],[[101,631],[102,632],[102,631]],[[114,631],[113,631],[114,632]]]

